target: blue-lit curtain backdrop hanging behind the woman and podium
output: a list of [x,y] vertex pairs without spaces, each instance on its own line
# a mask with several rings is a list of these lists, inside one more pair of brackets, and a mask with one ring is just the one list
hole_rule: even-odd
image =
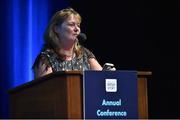
[[67,0],[0,1],[0,118],[8,118],[8,90],[33,80],[32,65],[41,50],[43,33],[55,11]]

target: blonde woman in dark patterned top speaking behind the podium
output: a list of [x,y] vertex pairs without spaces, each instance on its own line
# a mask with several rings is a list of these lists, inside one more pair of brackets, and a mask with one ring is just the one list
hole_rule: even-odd
[[57,11],[44,33],[44,45],[33,71],[35,78],[66,70],[102,70],[94,54],[80,44],[86,39],[80,29],[81,16],[73,8]]

